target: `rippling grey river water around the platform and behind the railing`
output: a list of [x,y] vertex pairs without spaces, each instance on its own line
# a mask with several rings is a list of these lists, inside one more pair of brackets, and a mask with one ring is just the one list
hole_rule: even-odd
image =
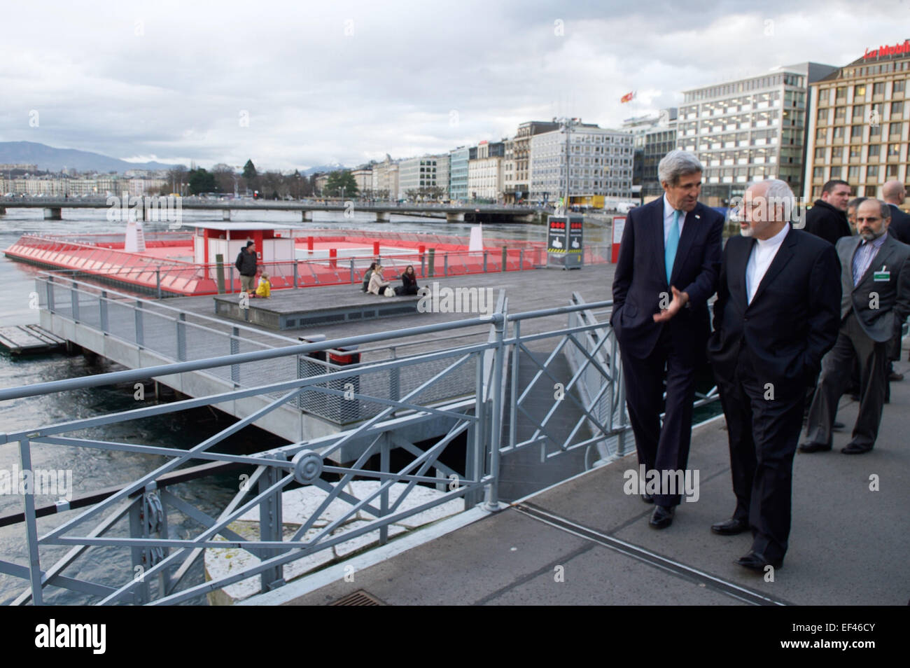
[[[64,220],[43,220],[41,209],[8,208],[5,216],[0,216],[0,248],[8,248],[25,233],[62,234],[62,233],[111,233],[124,229],[124,224],[111,223],[106,220],[104,209],[69,209],[64,212]],[[220,211],[184,210],[184,222],[191,223],[203,220],[220,222]],[[467,237],[470,225],[464,223],[445,223],[431,218],[392,216],[388,225],[377,224],[374,217],[367,213],[355,212],[354,218],[344,218],[340,213],[314,213],[312,223],[299,223],[299,214],[290,212],[233,212],[236,221],[258,221],[299,225],[302,228],[375,228],[398,232],[437,232]],[[147,223],[147,231],[164,231],[167,223]],[[540,225],[501,224],[484,225],[485,238],[519,238],[543,241],[545,228]],[[609,243],[609,228],[601,223],[588,222],[585,230],[586,243]],[[26,325],[38,322],[38,312],[29,308],[29,293],[35,290],[34,277],[39,268],[0,258],[0,324]],[[120,289],[120,288],[118,288]],[[83,355],[53,354],[38,357],[16,359],[0,353],[0,387],[12,388],[30,385],[47,380],[63,380],[86,375],[106,373],[122,369],[119,365],[106,359],[88,359]],[[148,387],[148,386],[147,386]],[[130,410],[140,405],[152,405],[154,394],[149,392],[145,401],[136,401],[132,384],[76,390],[64,393],[49,394],[40,397],[0,402],[0,430],[4,432],[37,429],[43,425],[56,424],[66,420],[104,415],[120,410]],[[230,424],[230,419],[216,414],[212,410],[185,410],[162,419],[133,420],[103,428],[86,430],[70,436],[90,437],[97,440],[146,443],[187,449],[200,440],[222,430]],[[226,449],[247,450],[256,446],[266,450],[282,444],[283,441],[257,428],[247,428],[235,434],[225,442]],[[165,458],[152,455],[110,452],[88,448],[70,448],[33,444],[33,469],[53,469],[73,472],[73,496],[86,494],[116,484],[134,481],[141,475],[152,471],[164,463]],[[16,471],[20,466],[18,443],[0,445],[0,471]],[[220,509],[237,491],[238,481],[231,476],[219,479],[208,478],[204,481],[187,482],[170,490],[186,501],[196,505],[209,515],[216,516]],[[53,504],[56,497],[35,496],[37,506]],[[18,494],[0,493],[0,516],[11,512],[22,511],[21,497]],[[69,521],[76,512],[52,515],[38,521],[39,535]],[[169,515],[169,518],[171,516]],[[180,516],[173,516],[169,521],[172,536],[181,539],[191,538],[200,530],[194,521],[177,521]],[[87,521],[69,531],[71,535],[86,535],[94,526],[94,521]],[[128,524],[121,521],[119,531],[108,532],[108,536],[127,536]],[[48,568],[56,559],[65,554],[68,546],[47,546],[41,549],[41,564]],[[0,527],[0,559],[6,562],[27,564],[27,547],[25,541],[25,524],[19,523]],[[77,570],[76,570],[77,569]],[[114,584],[126,582],[131,572],[129,552],[126,549],[94,548],[86,552],[64,572],[65,575],[78,575],[94,582]],[[203,582],[204,573],[201,560],[187,575],[190,582]],[[26,582],[9,575],[0,574],[0,604],[11,602],[26,589]],[[49,587],[45,589],[45,600],[66,604],[82,604],[91,599],[85,594]],[[203,598],[194,602],[204,604]]]

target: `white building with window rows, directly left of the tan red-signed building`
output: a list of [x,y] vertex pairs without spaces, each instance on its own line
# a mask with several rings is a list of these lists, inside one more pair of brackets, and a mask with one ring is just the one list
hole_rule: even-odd
[[749,181],[765,178],[801,191],[808,86],[834,70],[802,63],[683,92],[676,147],[702,161],[702,195],[709,204],[742,196]]

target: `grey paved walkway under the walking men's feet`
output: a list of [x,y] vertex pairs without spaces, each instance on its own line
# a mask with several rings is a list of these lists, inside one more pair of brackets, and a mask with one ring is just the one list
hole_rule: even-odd
[[[892,384],[875,450],[848,456],[840,448],[856,408],[844,397],[848,430],[834,435],[834,450],[796,454],[790,549],[773,582],[734,563],[748,533],[709,530],[734,506],[720,418],[693,433],[700,498],[683,502],[669,529],[652,530],[652,506],[622,491],[633,454],[374,565],[349,562],[353,582],[317,573],[247,604],[321,605],[363,590],[392,605],[905,605],[910,380]],[[870,491],[871,476],[880,491]]]

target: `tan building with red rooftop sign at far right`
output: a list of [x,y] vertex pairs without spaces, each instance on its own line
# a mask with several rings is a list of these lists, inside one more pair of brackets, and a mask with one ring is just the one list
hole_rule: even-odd
[[910,179],[910,40],[866,50],[810,86],[804,197],[840,178],[857,196],[879,197],[885,181]]

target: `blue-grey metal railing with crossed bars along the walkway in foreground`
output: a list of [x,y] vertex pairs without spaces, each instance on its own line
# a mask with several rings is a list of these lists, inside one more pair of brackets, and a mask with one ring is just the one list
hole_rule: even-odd
[[[48,282],[52,290],[56,289],[54,283]],[[78,289],[69,292],[75,296],[72,306],[76,312],[71,316],[86,317],[90,304],[80,301],[83,293]],[[585,304],[575,295],[568,306],[510,314],[508,300],[501,292],[496,308],[488,316],[279,349],[232,349],[234,354],[214,358],[208,350],[209,357],[205,359],[187,357],[187,361],[157,367],[0,390],[0,400],[14,400],[191,372],[222,376],[230,373],[229,369],[250,363],[294,369],[301,360],[327,349],[366,344],[380,344],[377,349],[393,346],[400,349],[400,339],[406,337],[425,337],[437,332],[449,332],[451,337],[457,337],[459,332],[478,326],[489,331],[486,340],[479,342],[393,355],[389,359],[361,362],[357,368],[326,369],[288,379],[268,374],[268,379],[255,387],[0,434],[0,443],[18,444],[23,471],[30,471],[33,461],[43,460],[40,455],[35,457],[35,449],[45,446],[142,453],[167,460],[122,487],[92,491],[72,501],[38,507],[33,494],[23,493],[22,513],[0,517],[0,526],[24,525],[25,554],[19,555],[19,562],[6,558],[0,561],[0,572],[27,582],[27,589],[15,599],[16,604],[51,602],[45,595],[48,588],[77,592],[86,601],[100,604],[179,603],[250,578],[258,578],[258,590],[267,592],[284,584],[284,567],[289,563],[368,534],[380,544],[385,543],[395,522],[439,508],[449,501],[462,500],[466,509],[482,501],[490,511],[499,510],[502,456],[531,446],[541,447],[545,460],[581,447],[597,446],[611,454],[602,444],[622,438],[628,432],[616,340],[609,325],[595,315],[611,305],[610,301]],[[56,303],[52,308],[56,308]],[[141,310],[145,312],[143,317],[147,317],[147,309]],[[99,318],[102,328],[110,324],[109,316],[108,313],[106,319],[103,309],[96,309],[91,315]],[[566,324],[561,325],[561,321]],[[167,322],[166,327],[175,331],[191,325],[204,327],[179,316]],[[179,340],[179,335],[175,334],[175,339]],[[175,339],[167,345],[173,345]],[[187,351],[191,349],[187,347]],[[535,355],[545,359],[541,362],[534,359]],[[571,373],[558,369],[561,357],[570,360]],[[430,361],[439,364],[439,370],[432,376],[410,385],[403,382],[415,365]],[[531,383],[522,385],[519,375],[526,364],[533,364],[536,370]],[[434,397],[434,388],[458,377],[464,369],[469,369],[472,376],[473,388],[468,396],[442,401]],[[387,380],[397,378],[398,391],[394,396],[370,394],[372,390],[365,388],[364,376],[377,372],[387,374]],[[359,386],[344,387],[354,377],[361,379]],[[562,392],[554,394],[554,384],[560,385]],[[249,455],[213,451],[228,436],[308,393],[378,408],[369,419],[329,436]],[[538,408],[532,412],[527,402],[535,393]],[[189,450],[112,442],[85,435],[86,430],[97,427],[129,420],[160,419],[181,410],[225,405],[253,396],[267,401]],[[551,398],[552,407],[541,412],[543,396]],[[578,420],[559,417],[569,405],[580,416]],[[504,428],[507,418],[509,429]],[[519,440],[520,424],[522,429],[529,425],[533,428],[530,438]],[[432,426],[430,432],[435,435],[425,438],[428,431],[421,430],[421,426]],[[424,438],[409,436],[417,432],[423,433]],[[390,452],[395,448],[410,455],[410,461],[397,468],[390,463]],[[453,448],[464,451],[463,465],[444,463]],[[621,454],[622,441],[612,450],[612,456]],[[368,466],[369,461],[377,459],[378,464]],[[203,463],[191,469],[181,468],[191,462]],[[177,493],[179,484],[238,470],[250,472],[248,483],[241,485],[217,516],[200,510]],[[355,478],[373,484],[352,492],[349,482]],[[430,500],[416,494],[419,486],[438,489],[440,478],[453,482]],[[317,508],[308,511],[305,517],[295,518],[293,530],[288,534],[282,520],[288,511],[283,492],[295,486],[312,486],[323,496]],[[332,504],[340,504],[341,510],[326,520],[323,513]],[[258,536],[238,534],[231,523],[256,509]],[[66,513],[64,521],[57,520],[53,528],[39,531],[39,519],[59,513]],[[203,529],[192,536],[174,535],[168,521],[176,515],[197,521]],[[320,518],[323,518],[321,522]],[[353,518],[359,519],[358,524],[350,531],[340,532]],[[94,526],[89,528],[87,522]],[[128,536],[109,535],[118,526],[122,531],[124,523],[128,523]],[[42,550],[46,554],[55,546],[71,549],[49,567],[43,566],[47,560],[42,558]],[[226,575],[214,576],[209,582],[187,582],[187,572],[205,550],[225,548],[246,551],[255,559]],[[120,555],[119,562],[110,560],[111,567],[106,573],[109,582],[95,582],[80,577],[79,572],[64,574],[75,570],[76,563],[89,550],[111,550]]]

